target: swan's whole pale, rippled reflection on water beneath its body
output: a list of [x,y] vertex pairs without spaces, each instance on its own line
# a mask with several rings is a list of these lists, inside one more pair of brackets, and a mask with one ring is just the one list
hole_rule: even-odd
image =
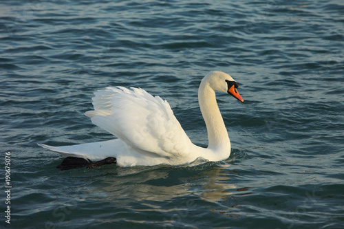
[[[235,184],[230,184],[230,164],[206,163],[199,166],[116,168],[116,173],[98,177],[90,193],[106,196],[121,204],[133,201],[168,201],[197,195],[206,201],[226,201]],[[228,175],[229,174],[229,175]],[[178,179],[175,179],[178,177]]]

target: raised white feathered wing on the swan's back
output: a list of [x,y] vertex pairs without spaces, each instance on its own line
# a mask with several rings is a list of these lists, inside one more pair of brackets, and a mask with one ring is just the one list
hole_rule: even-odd
[[166,100],[133,87],[107,87],[94,94],[94,111],[85,115],[138,152],[160,157],[190,153],[191,140]]

